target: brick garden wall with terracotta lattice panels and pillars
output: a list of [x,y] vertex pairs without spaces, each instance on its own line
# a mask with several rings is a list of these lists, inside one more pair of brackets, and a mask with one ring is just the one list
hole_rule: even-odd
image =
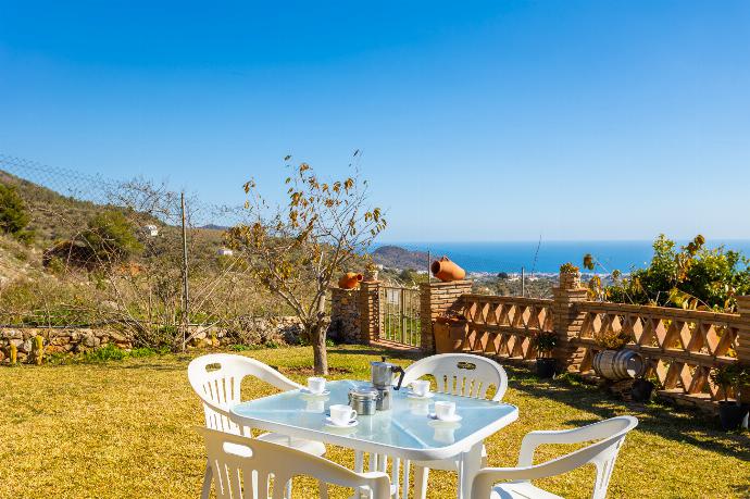
[[[358,328],[359,342],[385,338],[378,286],[372,282],[360,289],[333,290],[332,324],[340,324],[350,341],[357,340]],[[471,288],[468,280],[420,286],[424,353],[434,352],[433,322],[449,310],[466,317],[466,345],[473,353],[530,363],[537,354],[534,336],[551,332],[558,336],[553,354],[559,369],[587,377],[596,376],[591,364],[604,349],[600,338],[624,336],[624,348],[645,359],[660,396],[710,411],[725,396],[711,373],[727,364],[750,364],[750,297],[737,297],[736,314],[588,301],[578,275],[570,273],[561,273],[552,299],[474,295]]]

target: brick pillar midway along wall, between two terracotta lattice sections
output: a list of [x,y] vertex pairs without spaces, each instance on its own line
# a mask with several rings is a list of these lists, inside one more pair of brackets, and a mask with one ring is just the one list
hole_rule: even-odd
[[561,272],[560,286],[552,288],[552,317],[554,332],[558,334],[554,358],[558,359],[561,370],[578,371],[584,360],[585,350],[577,348],[571,340],[580,334],[585,314],[576,303],[586,301],[587,294],[586,288],[580,286],[580,276],[577,273]]

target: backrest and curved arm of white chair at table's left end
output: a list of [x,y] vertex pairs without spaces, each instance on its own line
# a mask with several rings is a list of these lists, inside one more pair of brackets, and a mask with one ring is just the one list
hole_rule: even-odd
[[246,376],[257,377],[280,390],[301,387],[273,367],[248,357],[211,353],[193,359],[188,365],[188,379],[203,401],[207,427],[241,433],[241,428],[229,420],[229,409],[241,402],[240,387]]

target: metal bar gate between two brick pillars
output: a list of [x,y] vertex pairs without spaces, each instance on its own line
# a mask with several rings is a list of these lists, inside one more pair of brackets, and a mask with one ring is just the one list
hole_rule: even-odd
[[420,347],[420,290],[380,286],[380,338]]

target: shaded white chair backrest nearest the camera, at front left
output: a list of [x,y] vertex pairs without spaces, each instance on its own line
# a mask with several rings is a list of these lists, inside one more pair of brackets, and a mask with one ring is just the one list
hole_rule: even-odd
[[217,499],[267,499],[273,476],[273,499],[282,499],[286,484],[305,475],[326,484],[359,489],[366,487],[373,499],[390,498],[385,473],[354,473],[324,458],[257,438],[199,428],[213,471]]

